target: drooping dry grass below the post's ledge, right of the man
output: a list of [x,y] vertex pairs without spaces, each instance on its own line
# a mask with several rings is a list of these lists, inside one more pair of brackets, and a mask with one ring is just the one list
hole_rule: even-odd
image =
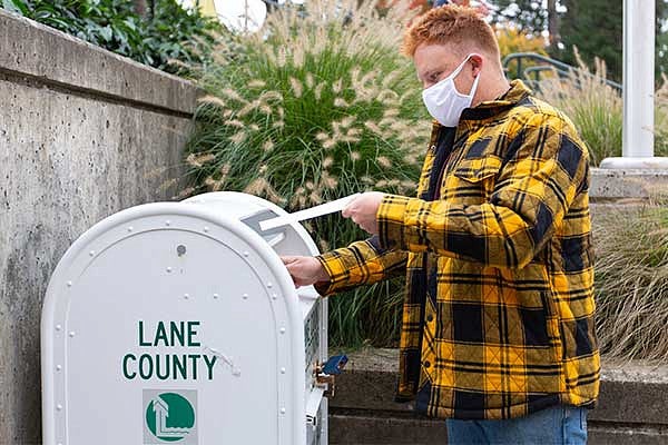
[[650,204],[593,208],[597,333],[609,359],[668,359],[668,190],[662,192]]

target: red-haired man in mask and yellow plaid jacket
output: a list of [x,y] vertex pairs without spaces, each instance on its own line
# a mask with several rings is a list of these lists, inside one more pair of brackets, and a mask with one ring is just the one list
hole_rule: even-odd
[[435,122],[416,198],[343,211],[374,236],[286,257],[326,296],[406,274],[397,399],[446,418],[450,443],[581,444],[599,388],[584,144],[509,83],[474,10],[445,6],[404,38]]

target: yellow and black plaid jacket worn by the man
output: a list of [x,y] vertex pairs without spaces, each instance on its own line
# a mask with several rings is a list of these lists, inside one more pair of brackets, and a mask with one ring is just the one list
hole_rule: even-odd
[[440,197],[386,195],[379,236],[321,255],[326,296],[406,274],[397,399],[432,417],[593,406],[589,160],[572,122],[521,81],[462,113]]

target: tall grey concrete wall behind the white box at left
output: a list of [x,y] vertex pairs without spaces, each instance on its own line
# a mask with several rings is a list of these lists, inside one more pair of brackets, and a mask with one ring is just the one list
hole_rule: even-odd
[[41,443],[40,313],[68,246],[171,197],[196,88],[0,10],[0,444]]

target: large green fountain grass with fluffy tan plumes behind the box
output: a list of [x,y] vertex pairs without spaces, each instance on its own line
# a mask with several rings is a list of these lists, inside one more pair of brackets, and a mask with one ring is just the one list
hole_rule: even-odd
[[[311,0],[272,13],[262,33],[237,36],[234,50],[216,48],[198,73],[208,96],[181,196],[242,190],[294,211],[367,189],[413,195],[430,119],[399,55],[405,22],[395,8],[380,17],[370,2]],[[338,215],[306,227],[323,251],[367,237]],[[395,344],[402,288],[333,297],[333,344]]]

